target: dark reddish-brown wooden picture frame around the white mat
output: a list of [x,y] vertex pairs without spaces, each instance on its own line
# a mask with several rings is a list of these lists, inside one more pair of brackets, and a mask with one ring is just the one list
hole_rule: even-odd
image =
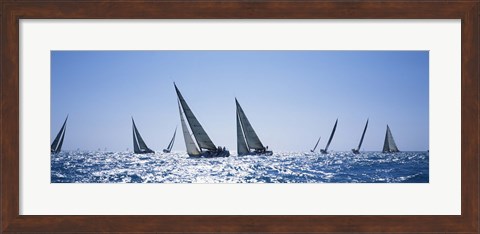
[[[479,6],[458,1],[3,0],[1,4],[1,231],[3,232],[451,232],[479,229]],[[461,19],[459,216],[19,215],[19,19]]]

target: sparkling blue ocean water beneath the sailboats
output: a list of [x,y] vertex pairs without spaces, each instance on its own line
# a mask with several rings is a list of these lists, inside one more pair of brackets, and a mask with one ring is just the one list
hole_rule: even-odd
[[428,183],[428,169],[428,152],[227,158],[100,151],[51,155],[52,183]]

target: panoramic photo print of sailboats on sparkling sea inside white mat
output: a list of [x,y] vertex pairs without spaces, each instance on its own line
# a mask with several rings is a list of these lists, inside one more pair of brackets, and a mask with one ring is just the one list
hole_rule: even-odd
[[51,183],[428,183],[428,51],[52,51]]

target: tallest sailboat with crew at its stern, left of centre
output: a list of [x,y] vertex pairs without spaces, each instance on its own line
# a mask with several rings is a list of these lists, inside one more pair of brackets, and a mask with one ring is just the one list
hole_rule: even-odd
[[[185,139],[185,145],[187,148],[187,153],[190,157],[228,157],[230,156],[230,151],[226,150],[225,147],[215,147],[212,140],[208,136],[207,132],[203,129],[200,122],[198,122],[197,118],[193,114],[192,110],[188,106],[187,102],[183,98],[180,90],[178,90],[177,85],[173,83],[175,86],[175,91],[178,97],[178,110],[180,112],[180,122],[182,123],[182,130],[183,130],[183,137]],[[185,115],[185,118],[183,117]],[[192,135],[190,135],[188,126],[190,126],[190,130],[192,131]],[[198,147],[197,147],[198,145]]]

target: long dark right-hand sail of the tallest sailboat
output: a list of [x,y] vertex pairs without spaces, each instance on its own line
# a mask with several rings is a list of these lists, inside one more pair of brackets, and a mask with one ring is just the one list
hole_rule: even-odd
[[215,147],[215,144],[213,144],[212,140],[210,140],[210,137],[207,135],[200,122],[198,122],[197,118],[187,105],[187,102],[183,98],[176,85],[175,91],[177,92],[178,100],[181,108],[183,109],[183,113],[185,113],[185,117],[187,118],[190,129],[192,130],[193,136],[195,137],[200,149],[216,150],[217,148]]

